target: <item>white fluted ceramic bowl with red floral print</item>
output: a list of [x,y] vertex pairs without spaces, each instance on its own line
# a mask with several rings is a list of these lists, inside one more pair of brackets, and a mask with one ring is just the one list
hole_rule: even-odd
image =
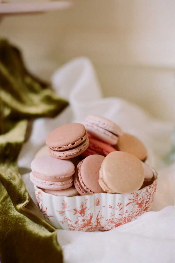
[[35,186],[35,195],[46,220],[57,229],[107,231],[135,220],[150,210],[157,186],[157,173],[151,185],[130,194],[96,193],[83,196],[56,196]]

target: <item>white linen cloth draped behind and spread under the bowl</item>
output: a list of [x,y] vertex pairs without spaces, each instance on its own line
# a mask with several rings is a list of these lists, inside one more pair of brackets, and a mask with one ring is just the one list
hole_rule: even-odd
[[[55,119],[41,118],[34,122],[30,140],[21,150],[19,167],[30,168],[35,153],[52,129],[67,122],[81,122],[92,113],[113,120],[124,131],[139,137],[149,150],[149,162],[159,173],[152,212],[108,232],[57,230],[64,261],[175,262],[175,164],[166,166],[163,162],[170,150],[169,138],[174,124],[153,119],[121,98],[103,98],[94,68],[87,58],[62,66],[52,76],[52,84],[57,94],[69,100],[70,106]],[[23,175],[23,180],[35,200],[29,174]]]

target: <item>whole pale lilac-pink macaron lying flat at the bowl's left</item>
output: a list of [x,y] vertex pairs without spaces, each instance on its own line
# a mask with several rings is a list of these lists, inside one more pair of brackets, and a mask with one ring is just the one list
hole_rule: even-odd
[[31,162],[30,180],[43,189],[62,190],[73,185],[74,164],[52,156],[40,156]]

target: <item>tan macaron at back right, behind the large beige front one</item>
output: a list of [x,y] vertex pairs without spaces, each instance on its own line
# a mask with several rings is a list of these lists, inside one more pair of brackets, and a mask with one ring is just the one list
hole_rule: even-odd
[[124,133],[118,138],[116,148],[119,151],[131,153],[142,161],[145,161],[147,158],[147,150],[144,144],[135,136],[128,133]]

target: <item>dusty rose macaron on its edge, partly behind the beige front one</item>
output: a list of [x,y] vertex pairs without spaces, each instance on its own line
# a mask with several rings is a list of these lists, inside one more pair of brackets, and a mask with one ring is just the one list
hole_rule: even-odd
[[98,183],[99,170],[103,160],[104,156],[102,155],[89,155],[77,166],[74,185],[80,195],[103,192]]

